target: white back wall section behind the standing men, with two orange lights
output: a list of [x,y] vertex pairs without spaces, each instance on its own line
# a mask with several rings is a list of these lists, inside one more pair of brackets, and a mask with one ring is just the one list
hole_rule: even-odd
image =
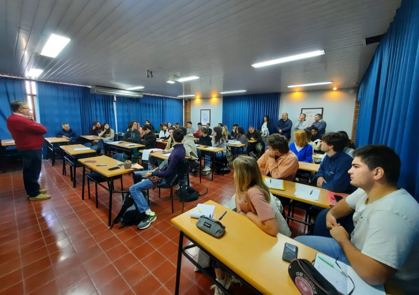
[[[336,91],[281,93],[279,114],[288,113],[292,124],[295,124],[301,113],[301,108],[323,108],[323,120],[327,123],[326,132],[343,130],[351,138],[356,93],[350,94],[350,90],[350,88],[346,88]],[[295,129],[293,130],[295,131]],[[290,142],[292,141],[291,136]]]

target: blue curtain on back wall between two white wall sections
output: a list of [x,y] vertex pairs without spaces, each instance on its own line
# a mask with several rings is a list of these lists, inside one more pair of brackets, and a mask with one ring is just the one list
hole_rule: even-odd
[[[271,128],[274,133],[278,120],[279,93],[238,95],[223,98],[223,124],[231,131],[233,124],[237,123],[247,132],[249,126],[260,129],[265,115],[269,115]],[[215,126],[215,124],[212,124]]]

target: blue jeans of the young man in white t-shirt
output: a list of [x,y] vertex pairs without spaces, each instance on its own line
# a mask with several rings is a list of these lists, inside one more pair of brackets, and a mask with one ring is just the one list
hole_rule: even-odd
[[298,236],[294,239],[301,244],[309,246],[319,252],[326,254],[338,261],[351,265],[346,258],[345,252],[333,238],[319,237],[319,236]]

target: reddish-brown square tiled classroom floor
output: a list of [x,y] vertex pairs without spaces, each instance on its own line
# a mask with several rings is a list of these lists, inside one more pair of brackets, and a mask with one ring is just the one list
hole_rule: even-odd
[[[161,190],[159,198],[157,190],[150,190],[150,207],[158,215],[155,223],[141,231],[109,230],[108,193],[99,188],[99,208],[93,195],[81,200],[81,168],[73,189],[69,173],[62,176],[60,162],[54,167],[43,162],[41,186],[52,196],[45,201],[26,199],[18,161],[0,174],[0,295],[174,294],[179,232],[170,219],[180,213],[181,204],[175,200],[172,214],[168,191]],[[228,205],[235,192],[233,172],[214,175],[212,182],[204,177],[202,184],[199,176],[191,174],[190,179],[198,191],[208,188],[199,202]],[[131,184],[131,177],[124,176],[124,188]],[[115,186],[120,188],[119,181]],[[120,194],[113,195],[113,217],[121,201]],[[187,203],[185,209],[195,204]],[[305,230],[295,222],[290,227],[293,236]],[[210,279],[194,272],[185,258],[182,264],[181,294],[213,294]],[[234,290],[249,293],[244,286]]]

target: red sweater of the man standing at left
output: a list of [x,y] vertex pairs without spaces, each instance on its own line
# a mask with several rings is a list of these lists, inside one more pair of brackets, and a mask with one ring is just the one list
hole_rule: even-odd
[[7,129],[15,140],[16,148],[24,150],[41,149],[44,144],[42,135],[47,133],[47,128],[41,124],[14,114],[7,119]]

